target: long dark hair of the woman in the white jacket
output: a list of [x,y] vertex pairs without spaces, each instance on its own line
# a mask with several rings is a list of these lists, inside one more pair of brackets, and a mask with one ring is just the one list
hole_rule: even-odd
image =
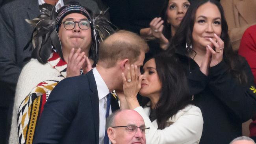
[[156,104],[158,129],[164,129],[167,120],[184,109],[191,101],[187,79],[178,58],[173,55],[154,56],[156,71],[162,84],[161,95]]

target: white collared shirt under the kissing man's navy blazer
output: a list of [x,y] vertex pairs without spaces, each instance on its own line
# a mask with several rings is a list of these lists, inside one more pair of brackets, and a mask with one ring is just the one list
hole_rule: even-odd
[[[99,144],[104,144],[104,136],[105,136],[105,126],[106,126],[106,113],[107,113],[107,95],[109,93],[109,89],[101,78],[100,74],[93,68],[93,75],[97,85],[98,97],[99,97],[99,114],[100,114],[100,129],[99,129]],[[112,113],[111,106],[109,110],[109,115]]]

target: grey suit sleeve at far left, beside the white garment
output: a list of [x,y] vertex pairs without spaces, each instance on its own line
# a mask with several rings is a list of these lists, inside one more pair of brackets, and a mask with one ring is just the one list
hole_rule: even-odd
[[0,9],[0,81],[14,92],[21,68],[16,61],[15,33],[7,8]]

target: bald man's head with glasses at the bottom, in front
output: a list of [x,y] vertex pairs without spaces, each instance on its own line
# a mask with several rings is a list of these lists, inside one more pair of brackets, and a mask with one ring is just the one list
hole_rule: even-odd
[[129,109],[111,114],[106,129],[112,144],[146,144],[145,133],[149,131],[141,115]]

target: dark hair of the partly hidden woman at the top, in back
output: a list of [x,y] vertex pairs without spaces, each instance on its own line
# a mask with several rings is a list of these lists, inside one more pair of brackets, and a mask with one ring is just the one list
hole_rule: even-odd
[[[191,0],[187,0],[189,3],[191,3]],[[169,8],[169,0],[165,0],[163,9],[160,13],[160,17],[163,20],[163,35],[166,37],[166,39],[170,40],[172,37],[172,30],[171,25],[167,23],[167,9]]]

